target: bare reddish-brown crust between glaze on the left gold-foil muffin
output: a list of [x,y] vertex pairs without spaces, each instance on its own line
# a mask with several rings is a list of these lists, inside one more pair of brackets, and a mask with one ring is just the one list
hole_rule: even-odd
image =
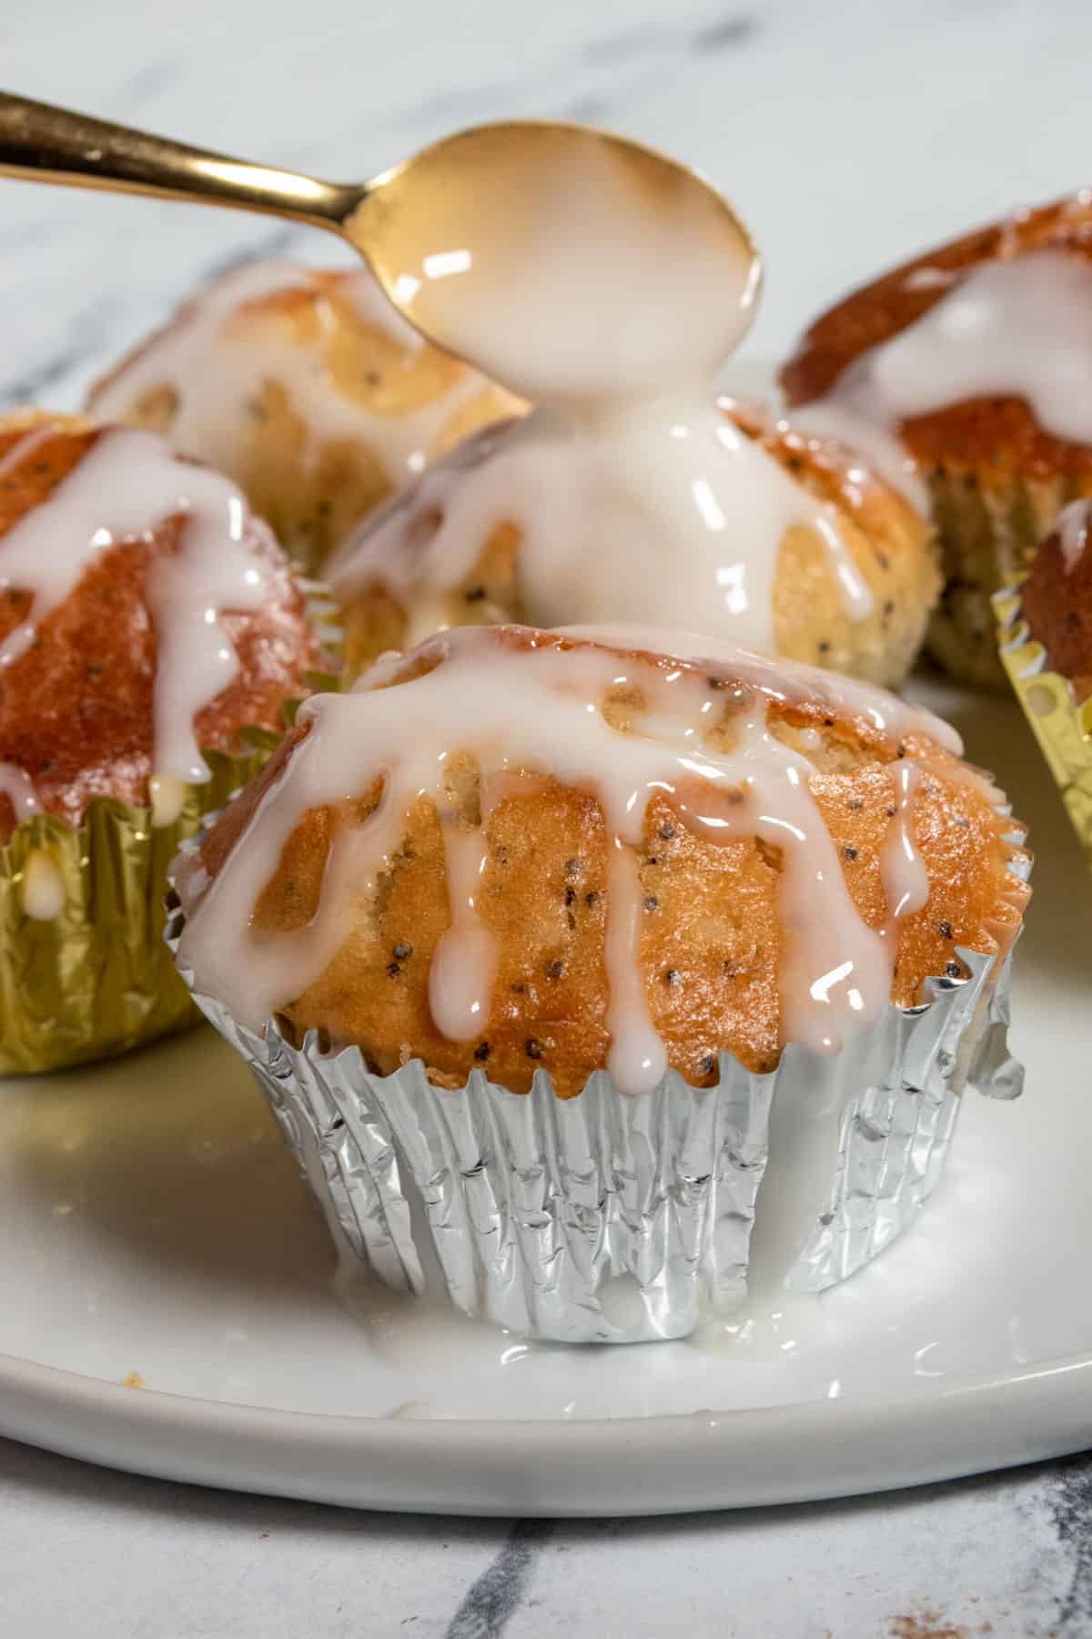
[[[103,436],[80,421],[20,413],[0,423],[0,459],[36,421],[54,431],[0,474],[0,538]],[[147,801],[156,629],[144,587],[149,565],[178,551],[182,523],[167,518],[149,538],[103,551],[44,616],[33,647],[0,670],[0,762],[28,774],[41,806],[70,824],[83,820],[93,797]],[[260,610],[223,616],[239,675],[195,720],[198,742],[226,752],[242,749],[244,726],[283,726],[285,700],[306,692],[305,674],[319,659],[303,593],[259,520],[247,541],[272,570],[272,595]],[[0,593],[0,641],[29,605],[18,587]],[[11,800],[0,793],[0,841],[13,828]]]

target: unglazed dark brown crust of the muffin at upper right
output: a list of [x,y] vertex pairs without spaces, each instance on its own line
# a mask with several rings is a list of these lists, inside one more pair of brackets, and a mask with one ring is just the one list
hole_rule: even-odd
[[[1048,247],[1092,257],[1092,190],[1017,211],[851,292],[815,320],[783,367],[787,402],[825,397],[846,365],[928,313],[948,287],[917,287],[914,275],[923,269],[959,274],[979,262],[1012,261]],[[1092,475],[1092,449],[1045,433],[1023,398],[968,398],[904,421],[900,434],[923,469],[1000,464],[1027,479]]]

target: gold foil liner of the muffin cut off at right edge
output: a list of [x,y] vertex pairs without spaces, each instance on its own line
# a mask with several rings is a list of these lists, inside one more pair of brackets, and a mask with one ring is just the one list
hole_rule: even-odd
[[1077,703],[1072,683],[1049,669],[1049,656],[1028,633],[1020,583],[994,597],[1000,662],[1058,782],[1092,867],[1092,700]]

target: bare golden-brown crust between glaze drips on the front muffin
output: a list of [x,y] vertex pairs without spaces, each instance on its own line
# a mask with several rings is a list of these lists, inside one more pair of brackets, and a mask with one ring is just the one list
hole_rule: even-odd
[[[521,646],[527,633],[499,629],[496,641]],[[534,634],[558,649],[575,639]],[[619,651],[661,670],[684,662]],[[398,687],[434,662],[411,654],[385,687]],[[722,685],[724,715],[712,729],[729,744],[747,685],[730,669],[702,662]],[[625,723],[632,698],[607,697],[604,713]],[[896,801],[894,767],[912,757],[922,769],[915,836],[932,893],[928,903],[897,924],[892,1000],[923,1000],[930,975],[958,977],[963,946],[1005,952],[1020,926],[1028,888],[1010,870],[1027,857],[1010,836],[982,782],[922,734],[892,742],[866,720],[837,716],[822,703],[773,701],[773,731],[817,764],[812,795],[833,838],[846,887],[871,928],[889,906],[881,880],[881,847]],[[805,731],[812,736],[802,741]],[[273,785],[301,728],[219,818],[200,862],[216,877],[244,833],[262,795]],[[476,769],[463,759],[455,793],[465,823],[480,815]],[[309,810],[290,836],[265,885],[255,929],[295,931],[314,916],[334,826],[360,823],[381,795],[381,782],[345,805]],[[273,798],[275,800],[275,798]],[[1018,828],[1015,828],[1018,831]],[[324,1041],[355,1042],[380,1074],[421,1057],[442,1085],[462,1085],[470,1070],[516,1092],[545,1069],[562,1096],[578,1093],[606,1064],[609,985],[604,956],[607,910],[607,834],[589,792],[539,779],[493,808],[486,821],[488,856],[478,893],[480,915],[496,941],[498,970],[488,1024],[470,1042],[447,1041],[429,1011],[432,954],[450,924],[445,852],[435,806],[417,800],[403,841],[375,897],[362,905],[326,972],[280,1010],[293,1039],[316,1028]],[[643,921],[639,960],[653,1028],[670,1064],[694,1085],[717,1078],[717,1054],[729,1051],[748,1069],[773,1069],[779,1057],[781,998],[778,972],[786,929],[778,911],[781,851],[756,838],[712,844],[688,829],[666,797],[648,806],[639,854]],[[183,890],[185,903],[185,890]]]

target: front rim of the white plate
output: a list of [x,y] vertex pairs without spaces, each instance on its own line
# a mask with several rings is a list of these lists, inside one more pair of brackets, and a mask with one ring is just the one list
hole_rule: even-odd
[[[864,1495],[1061,1457],[1092,1441],[1090,1383],[1092,1351],[897,1396],[643,1418],[399,1419],[131,1388],[0,1354],[0,1434],[129,1473],[350,1508],[648,1516]],[[581,1464],[598,1488],[580,1488]]]

